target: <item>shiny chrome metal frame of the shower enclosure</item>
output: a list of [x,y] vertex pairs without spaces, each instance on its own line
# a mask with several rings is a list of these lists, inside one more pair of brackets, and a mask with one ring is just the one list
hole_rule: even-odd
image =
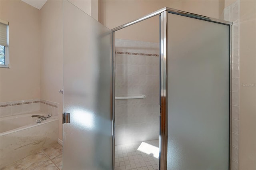
[[[138,22],[142,22],[144,20],[147,20],[149,18],[152,18],[154,16],[160,16],[160,106],[161,106],[161,113],[160,113],[160,134],[159,134],[159,169],[160,170],[167,170],[167,142],[168,142],[168,13],[177,14],[181,16],[186,16],[190,18],[195,18],[199,20],[205,20],[208,22],[214,22],[218,24],[224,24],[230,27],[230,63],[232,59],[232,22],[219,20],[216,18],[210,18],[206,16],[201,16],[198,14],[193,14],[190,12],[184,12],[181,10],[176,10],[173,8],[162,8],[160,10],[157,10],[155,12],[152,12],[146,16],[143,16],[141,18],[138,18],[137,20],[133,20],[131,22],[128,22],[126,24],[123,24],[121,26],[118,26],[114,29],[112,29],[112,38],[113,38],[113,77],[115,80],[115,32],[118,30],[121,30],[123,28],[126,28],[128,26],[134,25]],[[230,67],[230,91],[232,90],[232,69]],[[113,80],[113,83],[114,83]],[[231,99],[232,99],[232,93],[229,91],[230,96],[230,108],[229,108],[229,170],[231,170],[231,162],[232,162],[232,153],[231,153],[231,147],[232,147],[232,107],[231,107]],[[114,84],[113,84],[113,93],[114,93]],[[115,95],[113,95],[113,107],[115,107]],[[115,163],[115,109],[113,111],[113,167]]]

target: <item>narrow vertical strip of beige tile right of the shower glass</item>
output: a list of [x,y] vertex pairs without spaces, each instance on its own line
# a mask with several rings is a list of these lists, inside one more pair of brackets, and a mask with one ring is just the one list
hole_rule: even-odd
[[232,25],[232,170],[239,168],[239,22],[240,0],[224,9],[224,20]]

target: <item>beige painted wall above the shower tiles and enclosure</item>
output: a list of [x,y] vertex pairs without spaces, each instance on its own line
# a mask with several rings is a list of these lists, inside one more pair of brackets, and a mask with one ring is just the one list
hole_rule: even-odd
[[[113,29],[117,26],[136,20],[144,15],[170,7],[186,12],[192,12],[212,18],[220,18],[223,0],[100,0],[99,21],[106,27]],[[115,34],[116,38],[159,42],[159,17],[155,16]]]

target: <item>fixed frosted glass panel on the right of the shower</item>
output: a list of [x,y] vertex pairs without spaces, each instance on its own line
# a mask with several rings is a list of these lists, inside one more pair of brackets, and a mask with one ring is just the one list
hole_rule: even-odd
[[168,14],[168,170],[228,170],[229,35]]

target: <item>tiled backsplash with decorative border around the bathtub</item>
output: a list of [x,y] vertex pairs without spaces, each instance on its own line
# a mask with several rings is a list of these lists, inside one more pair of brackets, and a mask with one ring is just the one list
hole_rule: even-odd
[[29,99],[0,103],[0,117],[22,115],[34,111],[42,111],[45,114],[50,113],[52,116],[58,116],[59,104],[43,99]]

